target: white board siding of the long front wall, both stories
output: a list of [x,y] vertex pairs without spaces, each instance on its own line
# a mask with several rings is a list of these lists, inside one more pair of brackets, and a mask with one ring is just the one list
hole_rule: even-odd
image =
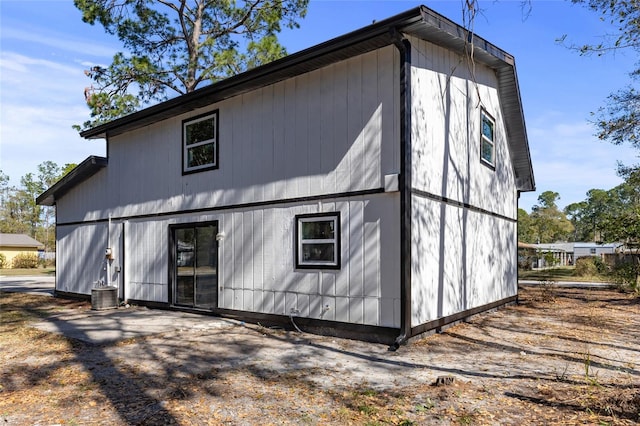
[[[123,226],[127,299],[171,303],[169,227],[217,220],[219,308],[399,327],[397,192],[238,207],[379,189],[398,174],[398,61],[385,47],[112,137],[108,166],[58,200],[58,221]],[[182,121],[213,110],[219,167],[183,176]],[[181,213],[206,208],[216,210]],[[341,213],[341,268],[296,270],[295,215],[328,211]],[[61,285],[100,268],[101,226],[61,231]],[[98,258],[76,266],[87,234]]]

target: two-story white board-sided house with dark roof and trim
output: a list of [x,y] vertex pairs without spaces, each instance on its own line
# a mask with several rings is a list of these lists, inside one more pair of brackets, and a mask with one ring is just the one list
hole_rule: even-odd
[[516,300],[514,58],[424,6],[82,136],[57,294],[394,345]]

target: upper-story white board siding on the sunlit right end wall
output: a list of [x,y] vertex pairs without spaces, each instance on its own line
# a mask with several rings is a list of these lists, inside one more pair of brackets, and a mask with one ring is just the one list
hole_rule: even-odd
[[[413,187],[517,217],[517,192],[498,81],[481,64],[411,39]],[[496,121],[495,170],[480,162],[480,114]],[[428,172],[426,172],[428,170]]]

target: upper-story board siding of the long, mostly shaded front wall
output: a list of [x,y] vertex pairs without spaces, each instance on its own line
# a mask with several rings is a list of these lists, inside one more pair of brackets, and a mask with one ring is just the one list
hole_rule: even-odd
[[[392,46],[109,138],[105,170],[59,221],[106,219],[380,188],[399,172]],[[219,168],[182,175],[182,121],[217,110]],[[143,176],[143,178],[140,178]]]

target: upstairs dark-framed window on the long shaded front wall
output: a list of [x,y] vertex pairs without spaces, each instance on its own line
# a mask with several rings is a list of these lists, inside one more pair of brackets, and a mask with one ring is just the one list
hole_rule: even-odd
[[182,173],[218,167],[218,111],[182,122]]

